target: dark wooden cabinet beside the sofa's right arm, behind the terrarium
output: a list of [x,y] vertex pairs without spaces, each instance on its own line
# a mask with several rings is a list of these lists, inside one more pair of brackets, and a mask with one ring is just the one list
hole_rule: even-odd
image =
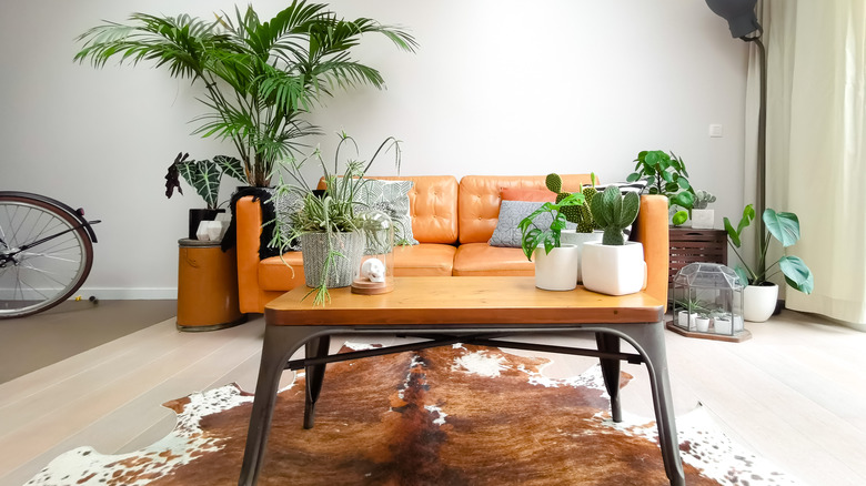
[[668,265],[668,285],[679,269],[689,263],[721,263],[727,265],[727,233],[725,230],[693,230],[671,226],[671,264]]

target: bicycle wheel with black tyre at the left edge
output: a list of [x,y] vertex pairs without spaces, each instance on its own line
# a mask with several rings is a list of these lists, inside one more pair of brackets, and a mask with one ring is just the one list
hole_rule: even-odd
[[0,318],[51,308],[81,286],[93,244],[80,226],[50,202],[0,196]]

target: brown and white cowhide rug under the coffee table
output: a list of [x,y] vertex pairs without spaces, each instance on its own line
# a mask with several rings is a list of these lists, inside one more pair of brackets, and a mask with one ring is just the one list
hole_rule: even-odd
[[[667,484],[654,423],[613,424],[597,366],[551,379],[547,363],[455,345],[332,364],[309,431],[300,374],[280,393],[259,484]],[[160,442],[122,455],[81,447],[27,484],[238,484],[252,396],[229,385],[165,406],[178,426]],[[688,485],[794,484],[699,408],[677,426]]]

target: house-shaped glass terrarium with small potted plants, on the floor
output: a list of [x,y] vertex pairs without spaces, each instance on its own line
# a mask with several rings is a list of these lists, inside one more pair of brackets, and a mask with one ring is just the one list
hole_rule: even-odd
[[677,272],[673,290],[673,327],[692,337],[743,341],[743,284],[718,263],[692,263]]

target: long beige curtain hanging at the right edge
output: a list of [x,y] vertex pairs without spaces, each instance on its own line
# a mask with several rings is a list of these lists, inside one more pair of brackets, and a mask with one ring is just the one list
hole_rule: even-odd
[[[765,0],[762,6],[768,74],[767,207],[799,216],[802,240],[788,252],[800,256],[815,275],[812,295],[787,288],[786,306],[862,330],[866,330],[865,2]],[[756,62],[752,64],[749,84],[758,75]],[[756,99],[749,97],[751,107]],[[747,166],[746,174],[754,171]]]

